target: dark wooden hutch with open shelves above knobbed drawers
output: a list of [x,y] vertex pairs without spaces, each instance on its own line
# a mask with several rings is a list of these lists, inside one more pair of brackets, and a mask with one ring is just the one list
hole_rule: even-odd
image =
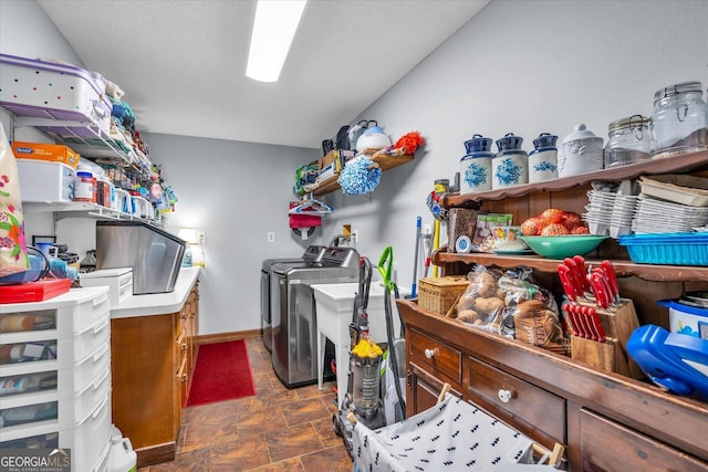
[[[551,207],[583,213],[594,180],[671,172],[708,176],[708,151],[489,192],[448,193],[442,206],[512,213],[514,221]],[[708,268],[636,264],[612,239],[585,259],[591,264],[613,261],[621,292],[634,300],[641,324],[668,328],[668,311],[657,300],[708,290]],[[457,254],[444,248],[433,262],[448,275],[466,274],[475,264],[524,265],[540,284],[562,294],[555,260]],[[462,398],[535,441],[564,443],[569,470],[708,471],[708,443],[699,433],[708,424],[706,402],[462,325],[420,310],[414,301],[397,303],[406,324],[408,416],[433,405],[447,381]]]

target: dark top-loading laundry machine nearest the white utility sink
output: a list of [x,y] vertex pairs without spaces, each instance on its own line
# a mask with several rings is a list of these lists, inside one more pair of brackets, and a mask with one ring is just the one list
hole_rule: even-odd
[[354,248],[327,248],[319,263],[272,266],[272,363],[285,387],[317,381],[317,318],[311,285],[357,282],[358,259]]

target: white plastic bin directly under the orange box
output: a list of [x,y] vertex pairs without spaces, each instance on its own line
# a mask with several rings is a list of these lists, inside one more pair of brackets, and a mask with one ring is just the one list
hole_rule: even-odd
[[73,197],[76,172],[62,162],[17,159],[22,201],[66,202]]

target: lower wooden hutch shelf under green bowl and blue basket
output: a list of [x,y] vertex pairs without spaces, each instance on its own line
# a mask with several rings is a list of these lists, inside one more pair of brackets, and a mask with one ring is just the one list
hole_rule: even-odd
[[[601,259],[587,258],[591,265],[600,265]],[[445,263],[461,262],[465,264],[496,265],[502,269],[525,265],[540,272],[555,273],[562,261],[556,259],[545,259],[539,255],[498,255],[491,253],[468,253],[459,254],[455,252],[442,252],[433,254],[433,263],[442,265]],[[653,282],[681,282],[681,281],[708,281],[708,268],[699,265],[654,265],[636,264],[632,261],[612,261],[617,276],[636,276]]]

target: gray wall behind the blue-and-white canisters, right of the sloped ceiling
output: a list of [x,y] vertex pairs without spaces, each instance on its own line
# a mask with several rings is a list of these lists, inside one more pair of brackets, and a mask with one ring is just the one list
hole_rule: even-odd
[[354,223],[373,261],[393,244],[398,283],[409,286],[416,217],[434,222],[426,196],[436,179],[452,181],[465,140],[512,132],[531,150],[540,133],[562,139],[576,123],[606,140],[612,120],[649,116],[658,88],[708,86],[706,25],[704,0],[491,1],[361,114],[393,139],[419,130],[427,145],[373,195],[329,197],[329,224]]

